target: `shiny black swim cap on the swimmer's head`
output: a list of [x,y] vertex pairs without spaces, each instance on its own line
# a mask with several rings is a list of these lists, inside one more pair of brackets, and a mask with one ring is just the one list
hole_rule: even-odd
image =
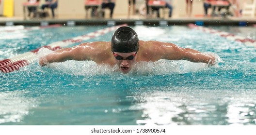
[[137,33],[130,27],[119,27],[112,36],[111,50],[118,53],[138,52],[139,38]]

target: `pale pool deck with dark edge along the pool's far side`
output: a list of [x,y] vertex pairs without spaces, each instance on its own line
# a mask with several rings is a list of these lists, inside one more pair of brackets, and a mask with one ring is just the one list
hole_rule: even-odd
[[148,26],[173,26],[173,25],[187,25],[197,24],[204,26],[255,26],[256,17],[173,17],[173,18],[146,18],[144,16],[133,15],[130,18],[127,16],[115,16],[113,19],[100,19],[80,17],[57,17],[45,19],[27,19],[21,17],[2,17],[0,16],[0,26],[24,25],[24,26],[46,26],[53,24],[62,24],[67,26],[74,25],[119,25],[128,24],[134,25],[148,25]]

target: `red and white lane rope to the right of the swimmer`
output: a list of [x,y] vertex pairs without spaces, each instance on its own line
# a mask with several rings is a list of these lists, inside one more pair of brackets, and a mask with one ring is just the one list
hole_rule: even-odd
[[227,40],[239,41],[239,42],[244,43],[247,46],[256,47],[256,40],[253,40],[253,39],[248,39],[248,38],[238,36],[238,35],[235,35],[235,34],[231,34],[231,33],[228,33],[228,32],[215,30],[215,29],[211,29],[211,28],[208,28],[208,27],[201,27],[201,26],[197,26],[197,25],[194,25],[194,24],[189,24],[188,26],[190,28],[202,30],[202,31],[210,33],[210,34],[219,35],[221,37],[226,38]]

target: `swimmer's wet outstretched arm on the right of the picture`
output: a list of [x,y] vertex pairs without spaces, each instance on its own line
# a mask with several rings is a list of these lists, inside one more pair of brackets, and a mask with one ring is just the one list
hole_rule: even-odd
[[209,54],[204,54],[199,51],[182,48],[175,44],[170,44],[169,47],[164,48],[165,53],[163,54],[164,59],[169,60],[188,60],[191,62],[202,62],[209,65],[215,64],[215,57]]

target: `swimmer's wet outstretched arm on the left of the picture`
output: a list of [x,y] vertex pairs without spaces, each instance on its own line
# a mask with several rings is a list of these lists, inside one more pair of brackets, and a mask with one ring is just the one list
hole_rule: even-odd
[[51,54],[39,58],[39,65],[46,66],[48,63],[53,62],[64,62],[67,60],[90,60],[88,52],[91,52],[89,49],[85,49],[84,45],[88,43],[83,43],[78,46],[63,48],[58,51],[55,51]]

